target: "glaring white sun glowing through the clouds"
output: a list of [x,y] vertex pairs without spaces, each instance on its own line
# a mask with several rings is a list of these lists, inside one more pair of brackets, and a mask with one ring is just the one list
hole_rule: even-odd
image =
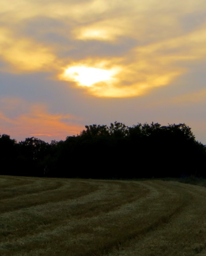
[[114,75],[112,70],[86,66],[69,67],[63,73],[65,79],[76,81],[79,85],[88,87],[101,81],[111,80],[112,75]]

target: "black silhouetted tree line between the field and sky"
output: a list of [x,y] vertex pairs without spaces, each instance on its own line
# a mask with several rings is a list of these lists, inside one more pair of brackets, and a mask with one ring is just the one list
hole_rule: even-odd
[[140,178],[206,177],[206,145],[185,124],[86,125],[77,136],[17,143],[0,135],[1,175]]

